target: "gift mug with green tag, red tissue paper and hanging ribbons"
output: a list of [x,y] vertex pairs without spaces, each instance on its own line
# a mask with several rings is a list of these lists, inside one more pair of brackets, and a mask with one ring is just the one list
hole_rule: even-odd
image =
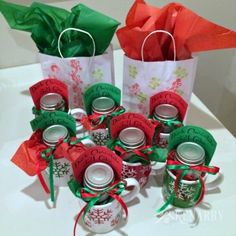
[[31,121],[31,127],[33,135],[20,145],[12,162],[28,175],[36,175],[54,201],[54,186],[67,184],[72,175],[71,162],[79,158],[90,141],[76,139],[74,118],[61,111],[41,113]]

